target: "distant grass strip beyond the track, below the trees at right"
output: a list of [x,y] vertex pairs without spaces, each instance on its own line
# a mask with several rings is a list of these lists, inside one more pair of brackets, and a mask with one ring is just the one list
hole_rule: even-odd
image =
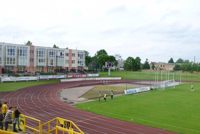
[[[101,77],[107,77],[108,72],[101,72],[100,73]],[[113,71],[111,72],[111,77],[122,77],[122,79],[129,79],[129,80],[155,80],[155,76],[158,77],[159,80],[167,80],[168,79],[168,74],[167,72],[162,72],[162,77],[161,73],[157,72],[157,75],[155,72],[147,72],[147,71]],[[176,80],[180,80],[180,77],[182,80],[186,81],[200,81],[200,73],[189,73],[189,72],[174,72],[174,78]],[[173,73],[169,73],[169,79],[173,79]]]

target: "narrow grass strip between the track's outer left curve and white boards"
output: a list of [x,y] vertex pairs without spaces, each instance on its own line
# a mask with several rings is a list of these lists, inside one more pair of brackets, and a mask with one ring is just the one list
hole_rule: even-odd
[[58,83],[59,80],[42,80],[42,81],[28,81],[28,82],[5,82],[0,83],[0,92],[16,91],[25,87],[32,87],[36,85],[45,85]]

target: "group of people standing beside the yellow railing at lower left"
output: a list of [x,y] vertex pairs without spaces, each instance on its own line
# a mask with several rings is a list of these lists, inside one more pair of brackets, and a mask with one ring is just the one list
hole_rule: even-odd
[[[3,104],[0,102],[0,129],[7,131],[8,125],[13,124],[13,132],[22,131],[19,122],[20,114],[17,107],[8,107],[7,102]],[[18,130],[16,125],[18,126]]]

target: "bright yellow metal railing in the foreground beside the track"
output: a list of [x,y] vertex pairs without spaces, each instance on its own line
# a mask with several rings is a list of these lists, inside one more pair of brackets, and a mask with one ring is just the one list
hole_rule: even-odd
[[[41,123],[40,120],[27,116],[20,115],[20,128],[23,133],[34,134],[84,134],[84,132],[71,120],[56,117],[46,123]],[[0,134],[16,134],[10,131],[0,130]]]

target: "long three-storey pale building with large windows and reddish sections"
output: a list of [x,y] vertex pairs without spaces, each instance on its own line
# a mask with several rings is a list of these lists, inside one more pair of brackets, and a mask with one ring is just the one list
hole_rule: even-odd
[[85,51],[0,42],[0,74],[83,70]]

